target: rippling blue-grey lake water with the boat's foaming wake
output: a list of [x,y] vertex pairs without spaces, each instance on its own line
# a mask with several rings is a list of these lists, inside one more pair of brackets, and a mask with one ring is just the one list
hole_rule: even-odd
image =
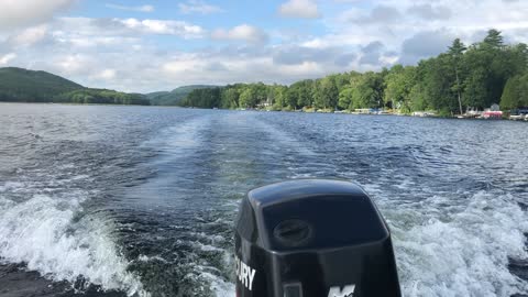
[[405,296],[528,296],[528,123],[0,105],[0,296],[234,296],[253,187],[354,180]]

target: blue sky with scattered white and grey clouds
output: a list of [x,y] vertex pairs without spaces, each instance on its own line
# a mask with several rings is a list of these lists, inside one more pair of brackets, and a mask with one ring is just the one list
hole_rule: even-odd
[[528,43],[527,0],[0,0],[0,67],[87,87],[292,84],[415,65],[497,29]]

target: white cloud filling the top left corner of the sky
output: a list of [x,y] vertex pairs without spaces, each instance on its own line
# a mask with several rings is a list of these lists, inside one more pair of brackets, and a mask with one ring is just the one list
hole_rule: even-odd
[[0,31],[48,21],[75,0],[1,0]]

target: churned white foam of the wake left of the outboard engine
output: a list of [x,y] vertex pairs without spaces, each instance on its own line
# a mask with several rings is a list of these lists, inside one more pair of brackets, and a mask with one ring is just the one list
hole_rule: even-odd
[[127,271],[111,222],[89,215],[75,222],[86,197],[82,191],[69,197],[34,195],[14,204],[0,195],[0,257],[24,263],[52,280],[74,284],[84,277],[107,290],[147,296],[139,278]]

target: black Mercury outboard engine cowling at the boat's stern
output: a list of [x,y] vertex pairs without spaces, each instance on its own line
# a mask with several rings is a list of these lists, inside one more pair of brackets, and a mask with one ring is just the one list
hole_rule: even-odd
[[238,297],[400,297],[391,233],[355,184],[254,189],[235,234]]

